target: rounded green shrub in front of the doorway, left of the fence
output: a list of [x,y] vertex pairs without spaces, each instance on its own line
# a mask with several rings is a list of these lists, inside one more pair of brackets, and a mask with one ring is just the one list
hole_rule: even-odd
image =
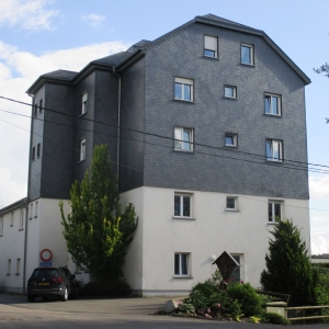
[[227,296],[239,300],[241,311],[246,317],[262,314],[262,299],[249,283],[229,284],[227,286]]

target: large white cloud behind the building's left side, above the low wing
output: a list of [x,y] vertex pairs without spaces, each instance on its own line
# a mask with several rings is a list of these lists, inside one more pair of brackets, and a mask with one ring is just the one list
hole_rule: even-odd
[[[128,46],[109,42],[36,56],[0,41],[0,95],[31,103],[25,91],[38,76],[57,69],[79,71],[89,61],[125,50]],[[1,110],[30,116],[31,106],[0,99],[0,208],[26,196],[30,148],[26,132],[30,131],[30,117]]]

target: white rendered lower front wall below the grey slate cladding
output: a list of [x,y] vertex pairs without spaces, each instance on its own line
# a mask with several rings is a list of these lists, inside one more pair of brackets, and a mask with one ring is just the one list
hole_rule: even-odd
[[[194,220],[173,218],[175,192],[192,193]],[[225,209],[228,195],[238,197],[238,212]],[[134,203],[139,216],[124,269],[132,288],[143,295],[188,293],[214,273],[211,257],[223,251],[240,254],[241,279],[260,287],[273,228],[268,222],[269,200],[275,198],[157,188],[123,193],[122,203]],[[293,218],[309,250],[308,201],[276,200],[283,201],[282,217]],[[191,277],[173,277],[175,252],[191,253]]]

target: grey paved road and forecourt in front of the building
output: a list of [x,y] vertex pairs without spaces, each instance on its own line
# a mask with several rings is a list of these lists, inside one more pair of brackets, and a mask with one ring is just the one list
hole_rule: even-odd
[[[206,328],[206,329],[273,329],[283,326],[209,321],[172,316],[151,315],[168,297],[78,299],[27,303],[25,296],[0,294],[0,328],[16,329],[84,329],[84,328]],[[286,327],[285,327],[286,328]],[[328,325],[294,326],[325,329]]]

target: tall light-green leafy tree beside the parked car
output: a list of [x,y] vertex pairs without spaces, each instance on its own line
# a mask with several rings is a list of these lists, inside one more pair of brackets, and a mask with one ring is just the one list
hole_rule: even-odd
[[106,145],[94,147],[91,175],[87,170],[81,182],[73,182],[70,205],[67,217],[63,202],[59,207],[63,234],[73,261],[98,281],[120,279],[138,218],[132,204],[121,211]]

